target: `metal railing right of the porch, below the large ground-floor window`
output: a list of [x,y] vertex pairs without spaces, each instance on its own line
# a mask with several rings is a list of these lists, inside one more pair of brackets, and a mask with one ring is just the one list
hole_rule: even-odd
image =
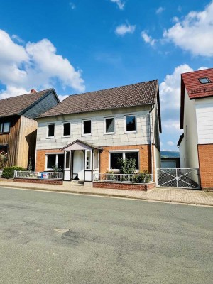
[[129,182],[129,183],[148,183],[153,182],[151,174],[117,174],[117,173],[96,173],[93,176],[94,182]]

